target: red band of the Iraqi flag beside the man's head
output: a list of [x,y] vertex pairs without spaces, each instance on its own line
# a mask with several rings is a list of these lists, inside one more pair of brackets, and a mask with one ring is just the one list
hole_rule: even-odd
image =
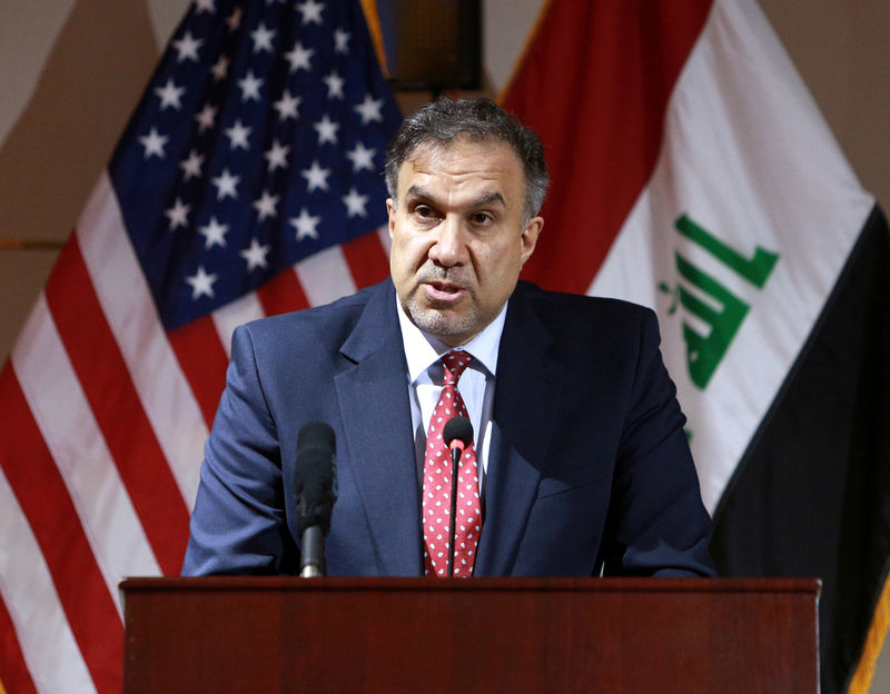
[[586,291],[661,150],[668,100],[711,0],[553,0],[505,108],[551,168],[546,224],[523,277]]

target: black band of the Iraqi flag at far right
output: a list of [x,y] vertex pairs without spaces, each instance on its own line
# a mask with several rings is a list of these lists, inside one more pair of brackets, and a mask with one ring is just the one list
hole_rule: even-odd
[[889,568],[889,277],[876,205],[714,514],[721,575],[822,579],[823,694],[856,672]]

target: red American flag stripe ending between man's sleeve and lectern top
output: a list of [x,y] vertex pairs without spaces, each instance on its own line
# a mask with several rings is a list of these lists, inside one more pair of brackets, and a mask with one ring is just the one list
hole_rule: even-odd
[[76,236],[62,250],[46,294],[158,564],[165,574],[178,574],[188,539],[188,509],[130,380]]

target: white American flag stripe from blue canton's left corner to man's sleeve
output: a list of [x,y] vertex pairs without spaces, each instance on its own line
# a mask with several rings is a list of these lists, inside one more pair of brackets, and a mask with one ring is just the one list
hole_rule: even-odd
[[107,172],[96,185],[77,234],[142,408],[190,509],[207,426],[158,319]]

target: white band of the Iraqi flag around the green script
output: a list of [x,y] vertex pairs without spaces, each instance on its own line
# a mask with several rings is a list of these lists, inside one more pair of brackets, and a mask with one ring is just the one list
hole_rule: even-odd
[[[659,311],[709,510],[872,205],[756,3],[718,0],[672,95],[652,180],[590,289]],[[763,289],[681,237],[674,224],[682,214],[745,257],[756,246],[780,254]],[[681,284],[675,252],[751,307],[704,390],[689,377],[682,337],[682,321],[694,317],[682,307],[670,314],[671,297],[655,290]]]

